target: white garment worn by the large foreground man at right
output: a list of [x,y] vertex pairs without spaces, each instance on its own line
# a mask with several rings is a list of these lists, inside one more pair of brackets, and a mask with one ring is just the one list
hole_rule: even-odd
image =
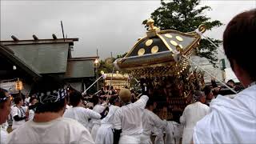
[[256,86],[231,99],[218,95],[210,104],[210,114],[194,128],[194,143],[255,143]]

